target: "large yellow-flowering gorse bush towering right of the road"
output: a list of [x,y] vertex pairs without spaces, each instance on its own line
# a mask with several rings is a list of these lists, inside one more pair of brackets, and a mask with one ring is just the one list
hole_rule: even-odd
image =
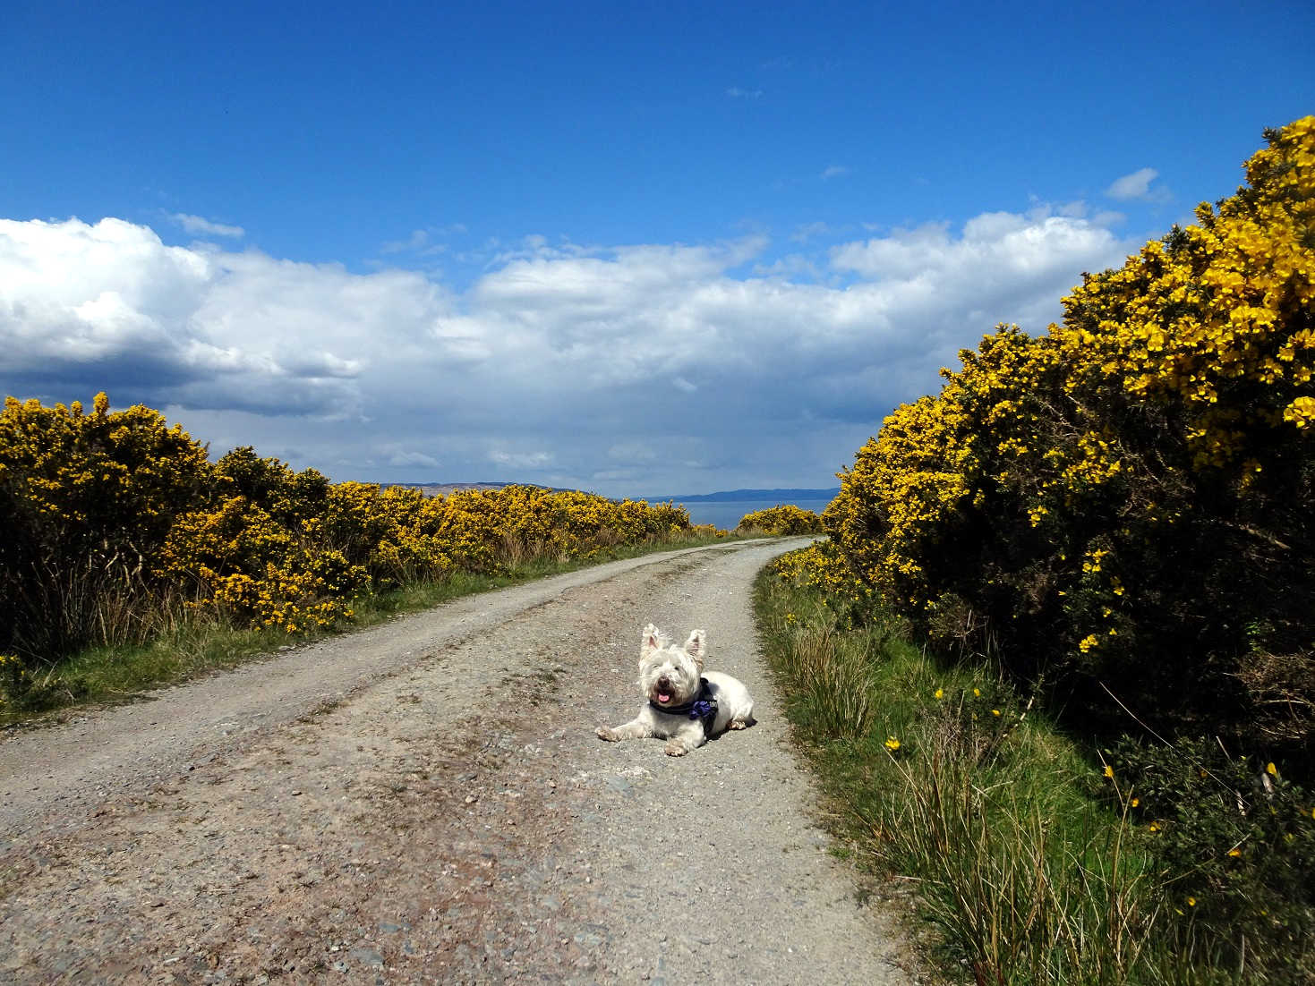
[[898,408],[823,525],[905,614],[1090,714],[1315,741],[1315,117],[1248,185]]

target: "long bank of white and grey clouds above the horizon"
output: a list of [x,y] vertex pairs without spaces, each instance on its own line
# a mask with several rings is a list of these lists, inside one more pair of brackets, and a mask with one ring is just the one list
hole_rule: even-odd
[[168,246],[121,220],[0,221],[0,385],[47,402],[107,389],[216,452],[254,444],[335,479],[822,485],[960,347],[999,321],[1044,330],[1084,270],[1130,250],[1044,213],[839,243],[826,281],[773,263],[763,235],[534,237],[459,294],[410,271]]

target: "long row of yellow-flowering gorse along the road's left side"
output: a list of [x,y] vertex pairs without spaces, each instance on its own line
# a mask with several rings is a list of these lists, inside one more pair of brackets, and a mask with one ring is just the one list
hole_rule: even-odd
[[141,642],[159,623],[150,614],[179,601],[295,634],[350,621],[354,598],[402,582],[692,532],[671,504],[537,486],[425,497],[334,484],[250,447],[210,463],[181,427],[149,408],[110,413],[105,394],[91,414],[7,401],[0,509],[12,518],[0,693],[29,695],[30,669],[88,643]]

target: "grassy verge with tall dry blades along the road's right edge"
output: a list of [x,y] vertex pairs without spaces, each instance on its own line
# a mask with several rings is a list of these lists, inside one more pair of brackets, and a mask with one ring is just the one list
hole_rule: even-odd
[[1233,903],[1261,926],[1207,920],[1197,870],[1245,860],[1212,840],[1194,847],[1201,862],[1166,868],[1128,782],[989,668],[935,660],[880,613],[855,626],[852,607],[771,568],[755,605],[836,835],[917,887],[919,939],[947,981],[1312,981],[1308,911],[1286,926],[1243,893]]

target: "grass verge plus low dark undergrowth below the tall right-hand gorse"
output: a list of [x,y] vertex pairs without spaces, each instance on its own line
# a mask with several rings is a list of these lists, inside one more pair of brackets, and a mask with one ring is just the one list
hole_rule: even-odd
[[1218,745],[1077,741],[997,665],[939,660],[898,615],[835,593],[843,572],[831,546],[782,557],[759,626],[839,833],[913,878],[944,969],[1019,986],[1315,977],[1315,797]]

